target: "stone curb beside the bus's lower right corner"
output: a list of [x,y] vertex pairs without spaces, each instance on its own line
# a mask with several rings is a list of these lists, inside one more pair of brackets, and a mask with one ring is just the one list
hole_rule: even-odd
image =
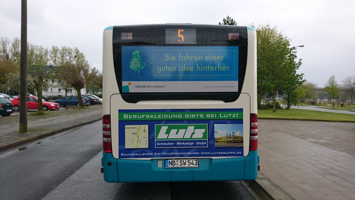
[[242,180],[242,184],[250,191],[256,199],[262,200],[294,200],[283,189],[276,185],[272,180],[266,177],[260,171],[255,180]]

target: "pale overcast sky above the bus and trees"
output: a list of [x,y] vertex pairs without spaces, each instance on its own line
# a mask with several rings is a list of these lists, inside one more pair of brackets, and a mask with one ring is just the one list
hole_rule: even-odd
[[[0,0],[0,37],[20,38],[21,1]],[[302,58],[299,73],[323,87],[355,76],[355,1],[73,1],[28,0],[28,42],[78,47],[102,69],[102,33],[113,25],[218,24],[227,15],[237,25],[277,25]]]

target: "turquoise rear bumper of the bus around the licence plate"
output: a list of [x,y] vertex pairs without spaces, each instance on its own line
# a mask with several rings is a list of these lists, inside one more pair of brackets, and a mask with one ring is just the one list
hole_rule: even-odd
[[246,157],[199,158],[198,168],[164,168],[158,162],[164,159],[133,160],[116,159],[103,152],[101,164],[107,182],[166,182],[166,181],[213,181],[254,180],[259,164],[258,150]]

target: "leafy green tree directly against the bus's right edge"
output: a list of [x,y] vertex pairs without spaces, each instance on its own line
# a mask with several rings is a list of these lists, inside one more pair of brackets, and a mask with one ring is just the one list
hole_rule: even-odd
[[262,94],[271,91],[273,112],[276,112],[276,90],[283,87],[285,76],[290,73],[290,70],[285,69],[290,41],[278,31],[277,26],[271,27],[269,24],[258,26],[256,36],[258,102],[261,102]]

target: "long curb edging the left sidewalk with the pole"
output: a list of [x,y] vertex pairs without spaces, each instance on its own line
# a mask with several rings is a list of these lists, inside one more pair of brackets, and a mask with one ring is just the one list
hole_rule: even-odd
[[27,139],[24,139],[24,140],[21,140],[21,141],[18,141],[18,142],[13,142],[11,144],[6,144],[6,145],[0,147],[0,151],[4,151],[6,149],[16,147],[18,145],[21,145],[21,144],[24,144],[24,143],[27,143],[27,142],[32,142],[34,140],[38,140],[40,138],[44,138],[44,137],[53,135],[55,133],[59,133],[59,132],[62,132],[62,131],[70,130],[72,128],[76,128],[76,127],[79,127],[79,126],[87,125],[89,123],[93,123],[93,122],[99,121],[101,119],[102,119],[102,117],[100,117],[98,119],[91,120],[91,121],[87,121],[87,122],[77,123],[75,125],[64,127],[64,128],[60,128],[58,130],[51,131],[51,132],[48,132],[48,133],[44,133],[44,134],[39,135],[39,136],[30,137],[30,138],[27,138]]

